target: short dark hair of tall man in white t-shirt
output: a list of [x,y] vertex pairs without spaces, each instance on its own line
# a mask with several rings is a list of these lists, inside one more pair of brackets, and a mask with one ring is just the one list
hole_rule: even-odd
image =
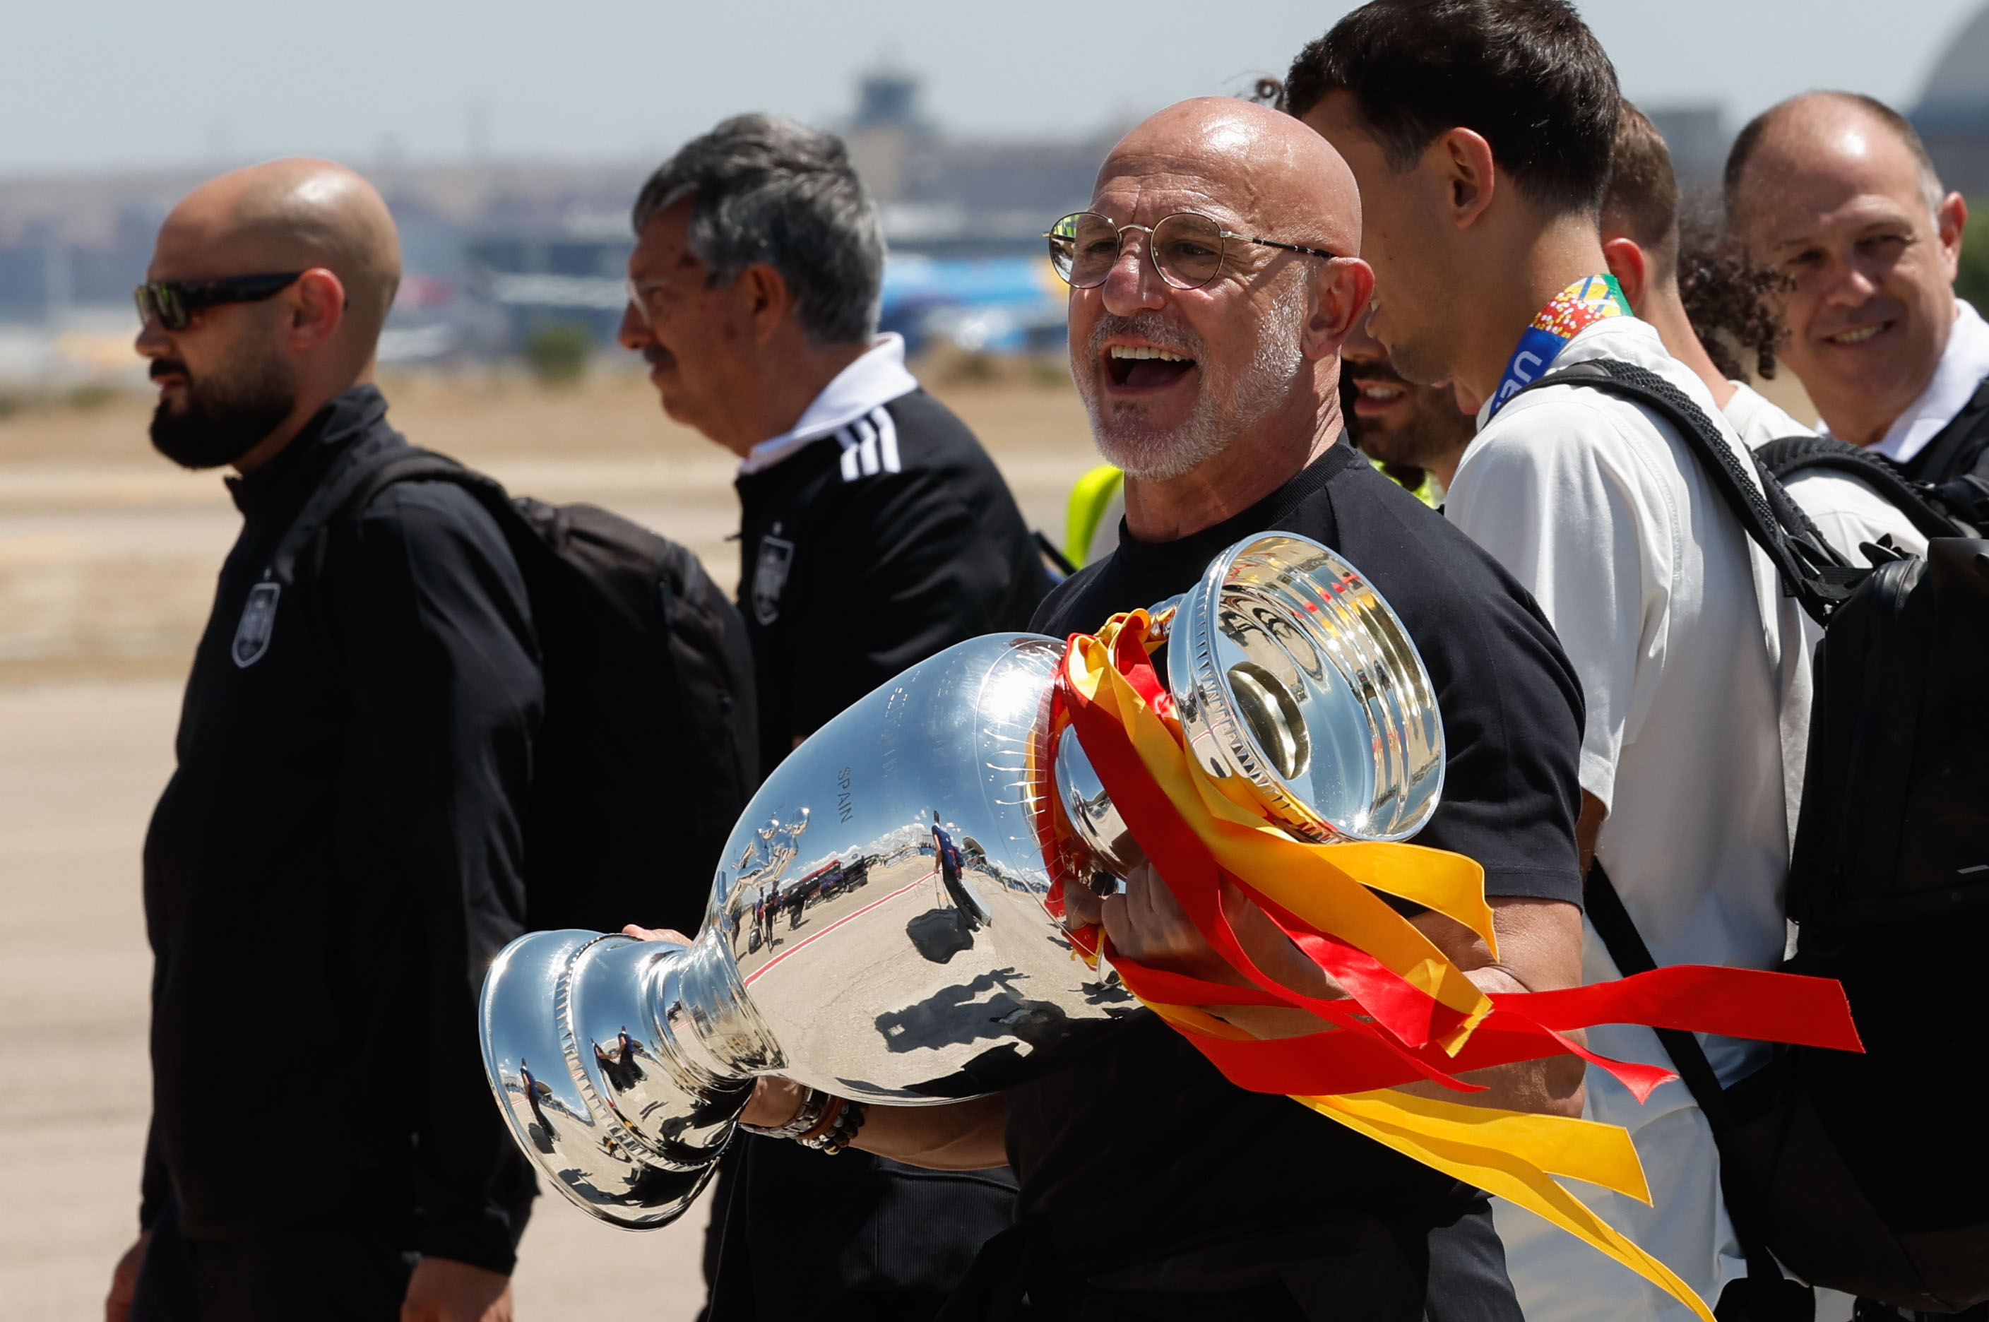
[[1353,93],[1398,171],[1464,127],[1537,207],[1601,205],[1623,95],[1565,0],[1374,0],[1299,52],[1285,109],[1305,115],[1329,91]]

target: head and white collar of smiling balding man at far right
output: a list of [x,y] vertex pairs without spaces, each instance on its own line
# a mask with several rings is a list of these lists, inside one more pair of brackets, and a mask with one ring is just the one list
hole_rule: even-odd
[[1790,280],[1780,358],[1826,433],[1931,483],[1983,461],[1989,322],[1953,288],[1967,203],[1913,125],[1850,91],[1782,101],[1734,139],[1726,215]]

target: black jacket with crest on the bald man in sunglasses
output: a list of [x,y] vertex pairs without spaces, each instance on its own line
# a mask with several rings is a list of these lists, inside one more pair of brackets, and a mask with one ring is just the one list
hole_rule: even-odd
[[533,1191],[491,1105],[475,996],[523,930],[541,676],[517,563],[463,489],[344,511],[265,580],[354,447],[362,386],[255,473],[145,839],[145,1225],[195,1239],[356,1213],[509,1270]]

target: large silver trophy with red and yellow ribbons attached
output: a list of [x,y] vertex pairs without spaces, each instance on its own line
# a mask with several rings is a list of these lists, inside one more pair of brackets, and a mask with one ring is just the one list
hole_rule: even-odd
[[835,1151],[865,1107],[998,1093],[1146,1006],[1239,1087],[1508,1197],[1711,1318],[1553,1179],[1649,1199],[1623,1129],[1470,1105],[1460,1075],[1571,1052],[1639,1095],[1671,1077],[1569,1036],[1601,1022],[1856,1050],[1842,990],[1732,968],[1480,990],[1404,916],[1496,948],[1478,865],[1404,843],[1442,781],[1388,602],[1327,547],[1257,537],[1098,634],[963,642],[851,706],[748,805],[694,940],[513,942],[485,1068],[561,1193],[654,1227],[738,1123]]

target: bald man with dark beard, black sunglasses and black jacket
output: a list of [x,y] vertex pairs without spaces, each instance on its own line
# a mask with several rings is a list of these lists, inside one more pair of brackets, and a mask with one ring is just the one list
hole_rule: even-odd
[[243,531],[145,839],[153,1115],[111,1322],[511,1316],[533,1181],[475,992],[523,926],[525,584],[461,487],[318,509],[406,449],[372,386],[398,282],[364,179],[274,161],[183,199],[137,290],[153,445],[231,465]]

